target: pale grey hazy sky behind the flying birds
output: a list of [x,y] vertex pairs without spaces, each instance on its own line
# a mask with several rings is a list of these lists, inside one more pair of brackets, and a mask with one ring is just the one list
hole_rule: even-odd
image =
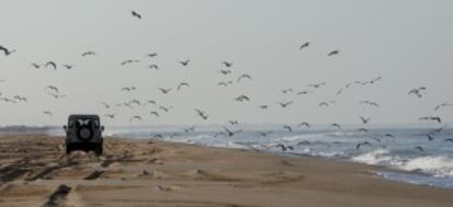
[[[130,11],[142,14],[142,20]],[[2,97],[23,95],[27,103],[0,102],[0,125],[61,125],[71,113],[116,112],[107,125],[242,123],[418,123],[420,116],[440,115],[453,122],[453,107],[438,112],[442,102],[453,103],[453,1],[450,0],[3,0],[0,3],[0,45],[16,49],[0,55]],[[311,42],[310,47],[299,46]],[[333,49],[340,54],[328,58]],[[94,50],[96,57],[80,54]],[[155,58],[146,54],[158,53]],[[126,59],[141,62],[119,66]],[[187,68],[177,61],[190,59]],[[74,69],[36,70],[31,62],[54,60]],[[221,61],[234,62],[232,74],[219,72]],[[149,70],[156,64],[161,70]],[[228,88],[219,81],[236,81],[249,73],[252,81]],[[348,82],[382,76],[373,85]],[[176,91],[179,82],[190,88]],[[282,89],[312,90],[310,83],[326,81],[314,94],[282,94]],[[55,100],[47,85],[68,96]],[[123,87],[136,92],[121,92]],[[427,87],[422,99],[407,95]],[[158,88],[173,88],[163,95]],[[313,91],[313,90],[312,90]],[[245,94],[248,103],[234,97]],[[113,107],[123,103],[155,100],[172,106],[169,113],[154,106]],[[318,107],[335,100],[329,107]],[[373,108],[362,100],[381,104]],[[288,108],[277,102],[293,101]],[[268,104],[267,111],[258,105]],[[202,120],[194,108],[206,111]],[[43,114],[51,111],[54,117]],[[159,111],[161,117],[149,113]],[[133,115],[143,122],[129,123]]]

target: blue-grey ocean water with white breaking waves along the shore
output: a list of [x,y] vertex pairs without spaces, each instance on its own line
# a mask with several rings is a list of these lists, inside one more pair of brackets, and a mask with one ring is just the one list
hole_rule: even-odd
[[[392,180],[453,189],[453,128],[358,128],[336,129],[328,126],[295,128],[288,131],[281,126],[229,126],[241,130],[234,136],[216,135],[222,126],[116,127],[107,128],[107,135],[132,139],[161,139],[201,146],[259,149],[282,156],[328,158],[385,166],[388,171],[376,172]],[[269,133],[262,136],[259,133]],[[56,131],[55,131],[56,133]],[[388,136],[387,134],[392,135]],[[432,140],[427,134],[431,134]],[[387,135],[387,136],[385,136]],[[358,143],[368,141],[370,145]],[[277,145],[290,146],[284,151]],[[422,150],[420,148],[421,147]],[[397,170],[397,171],[395,171]]]

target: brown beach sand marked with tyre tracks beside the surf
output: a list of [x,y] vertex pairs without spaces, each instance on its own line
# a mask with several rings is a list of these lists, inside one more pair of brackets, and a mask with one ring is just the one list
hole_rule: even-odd
[[105,138],[65,154],[63,138],[0,137],[0,206],[448,206],[453,191],[385,181],[315,158]]

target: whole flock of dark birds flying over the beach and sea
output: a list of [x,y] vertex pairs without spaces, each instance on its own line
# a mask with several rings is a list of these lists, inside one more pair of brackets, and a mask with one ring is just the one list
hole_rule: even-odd
[[[136,18],[137,20],[141,20],[142,19],[142,15],[139,12],[137,12],[137,11],[131,11],[130,14],[132,15],[132,18]],[[311,46],[311,43],[310,42],[305,42],[305,43],[303,43],[303,44],[301,44],[299,46],[299,50],[307,49],[310,46]],[[8,47],[1,46],[1,45],[0,45],[0,51],[2,51],[5,57],[11,56],[14,53],[16,53],[15,49],[11,49],[11,48],[8,48]],[[329,57],[329,58],[330,57],[334,57],[334,56],[338,56],[338,55],[340,55],[340,50],[338,50],[338,49],[330,50],[330,51],[326,53],[326,56]],[[93,51],[93,50],[88,50],[88,51],[82,53],[80,56],[81,57],[90,57],[90,56],[94,56],[95,57],[95,56],[97,56],[97,54],[95,51]],[[146,55],[147,58],[155,58],[158,56],[159,56],[158,53],[151,53],[151,54],[147,54]],[[120,66],[127,66],[127,65],[137,64],[137,62],[140,62],[140,60],[139,59],[126,59],[124,61],[120,61],[119,65]],[[187,67],[187,66],[190,65],[190,59],[179,60],[179,61],[177,61],[177,64],[181,67]],[[234,67],[234,62],[232,62],[232,61],[222,61],[222,62],[220,62],[220,65],[221,65],[222,69],[220,69],[219,72],[222,76],[228,77],[228,76],[231,76],[233,73],[232,68]],[[51,70],[59,70],[61,68],[62,69],[66,69],[66,70],[71,70],[71,69],[73,69],[76,67],[76,65],[69,65],[69,64],[58,65],[55,61],[32,62],[30,66],[32,68],[34,68],[34,69],[51,69]],[[155,64],[152,64],[152,65],[149,65],[148,66],[148,69],[160,70],[160,67],[158,65],[155,65]],[[233,81],[233,80],[220,81],[220,82],[218,82],[218,87],[229,87],[231,84],[234,84],[235,82],[237,83],[237,82],[245,81],[245,80],[248,80],[248,81],[253,80],[252,74],[242,73],[242,74],[240,74],[235,79],[235,81]],[[338,89],[336,95],[340,95],[345,90],[348,90],[351,87],[356,87],[356,85],[357,87],[360,87],[360,85],[363,87],[363,85],[369,85],[369,84],[375,84],[380,80],[382,80],[382,77],[376,77],[376,78],[373,78],[371,80],[364,80],[364,81],[348,82],[344,87],[341,87],[340,89]],[[4,80],[0,80],[0,81],[1,82],[4,82]],[[311,90],[297,91],[294,89],[282,89],[282,90],[280,90],[280,92],[282,94],[293,93],[293,94],[295,94],[298,96],[299,95],[309,95],[309,94],[314,93],[315,90],[325,87],[326,84],[327,84],[326,82],[316,82],[316,83],[311,83],[311,84],[307,84],[306,85]],[[173,88],[158,88],[158,90],[162,94],[169,94],[172,91],[175,91],[175,90],[179,91],[179,90],[183,90],[184,88],[190,88],[190,83],[188,83],[188,82],[181,82],[181,83],[178,83],[175,87],[175,89],[173,89]],[[133,87],[133,85],[123,87],[120,89],[121,92],[131,92],[131,91],[136,91],[136,90],[137,90],[137,88]],[[47,85],[44,89],[44,91],[45,91],[45,93],[47,95],[49,95],[49,96],[51,96],[54,99],[63,99],[63,97],[67,96],[67,94],[65,94],[56,85]],[[415,95],[418,99],[422,99],[422,96],[426,93],[426,91],[427,91],[427,88],[426,87],[417,87],[415,89],[409,90],[407,92],[407,95]],[[20,102],[27,102],[27,97],[24,97],[24,96],[21,96],[21,95],[14,95],[12,97],[4,97],[4,96],[2,96],[2,93],[0,93],[0,101],[10,102],[10,103],[20,103]],[[240,94],[239,96],[234,97],[233,101],[240,102],[240,103],[241,102],[251,102],[251,97],[248,95],[245,95],[245,94]],[[293,103],[294,103],[294,101],[278,102],[277,105],[280,106],[281,108],[287,108],[290,105],[292,105]],[[330,100],[330,101],[325,101],[325,102],[318,103],[318,106],[320,107],[328,107],[329,105],[335,104],[335,103],[336,103],[335,100]],[[151,111],[149,113],[149,115],[150,116],[153,116],[153,117],[160,117],[160,116],[162,116],[163,113],[167,113],[169,111],[171,111],[173,108],[172,106],[160,105],[154,100],[140,101],[140,100],[137,100],[137,99],[133,99],[133,100],[130,100],[130,101],[127,101],[127,102],[121,102],[121,103],[106,103],[106,102],[102,102],[101,104],[107,111],[112,110],[114,106],[135,108],[136,106],[154,105],[154,106],[156,106],[156,110],[153,110],[153,111]],[[363,100],[363,101],[360,102],[360,104],[367,105],[367,106],[370,106],[370,107],[380,107],[380,104],[379,103],[376,103],[374,101],[371,101],[371,100]],[[446,102],[445,103],[441,103],[441,104],[437,105],[433,110],[434,111],[439,111],[442,107],[449,107],[449,106],[453,106],[453,103],[446,103]],[[264,110],[268,110],[269,107],[270,107],[269,104],[262,104],[262,105],[258,105],[257,106],[257,108],[263,110],[263,111]],[[43,114],[46,115],[46,116],[53,116],[53,112],[50,112],[50,111],[44,111]],[[208,120],[209,117],[210,117],[210,115],[206,111],[204,111],[201,108],[194,108],[194,114],[197,115],[197,116],[199,116],[199,118],[201,118],[202,120]],[[116,113],[106,113],[106,114],[104,114],[104,116],[106,118],[116,118],[117,114]],[[133,115],[133,116],[129,117],[128,120],[129,122],[141,122],[142,119],[143,118],[140,115]],[[359,116],[359,119],[360,119],[361,124],[363,125],[363,127],[362,128],[359,128],[357,130],[358,131],[361,131],[361,133],[369,133],[369,130],[367,129],[365,126],[372,120],[371,117]],[[420,120],[442,123],[442,119],[439,116],[423,116],[423,117],[420,117],[419,119]],[[229,120],[228,123],[231,126],[239,125],[239,120]],[[426,137],[428,138],[429,141],[432,141],[434,139],[434,136],[438,133],[440,133],[442,129],[444,129],[445,127],[446,127],[446,125],[442,126],[441,128],[437,128],[437,129],[430,130],[430,131],[428,131],[426,134]],[[242,131],[241,129],[239,129],[239,130],[232,130],[228,126],[223,126],[222,128],[223,128],[223,130],[217,133],[214,135],[214,137],[218,137],[218,136],[232,137],[232,136],[235,136],[236,134],[239,134],[239,133]],[[307,122],[301,122],[297,126],[283,125],[280,130],[287,130],[289,133],[292,133],[292,131],[297,130],[297,128],[311,128],[311,124],[307,123]],[[334,123],[334,124],[330,125],[330,128],[334,128],[334,129],[338,129],[339,130],[339,129],[341,129],[341,126],[338,123]],[[190,128],[184,129],[184,133],[194,133],[195,129],[196,129],[196,127],[193,126]],[[270,130],[270,131],[258,131],[258,135],[262,136],[262,137],[266,137],[266,136],[268,136],[268,135],[270,135],[272,133],[274,133],[274,130]],[[162,135],[158,134],[158,135],[155,135],[155,137],[162,137]],[[385,134],[385,135],[383,135],[383,137],[394,137],[394,135]],[[374,138],[374,140],[380,141],[380,138]],[[453,142],[453,139],[445,139],[445,141]],[[309,145],[309,142],[305,141],[305,142],[303,142],[301,145]],[[372,143],[371,140],[367,140],[367,141],[357,143],[356,149],[359,150],[362,147],[365,147],[365,146],[371,147],[373,143]],[[281,148],[282,151],[287,151],[287,150],[292,150],[293,149],[292,146],[286,146],[286,145],[282,145],[282,143],[278,143],[278,145],[276,145],[274,147]],[[419,151],[423,151],[423,148],[421,146],[416,146],[416,147],[414,147],[414,149],[419,150]]]

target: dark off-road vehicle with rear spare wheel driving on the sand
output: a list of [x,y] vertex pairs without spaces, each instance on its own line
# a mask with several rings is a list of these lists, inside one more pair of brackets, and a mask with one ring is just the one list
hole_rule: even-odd
[[66,130],[66,153],[74,150],[94,151],[97,156],[103,152],[102,131],[100,116],[73,114],[68,118]]

